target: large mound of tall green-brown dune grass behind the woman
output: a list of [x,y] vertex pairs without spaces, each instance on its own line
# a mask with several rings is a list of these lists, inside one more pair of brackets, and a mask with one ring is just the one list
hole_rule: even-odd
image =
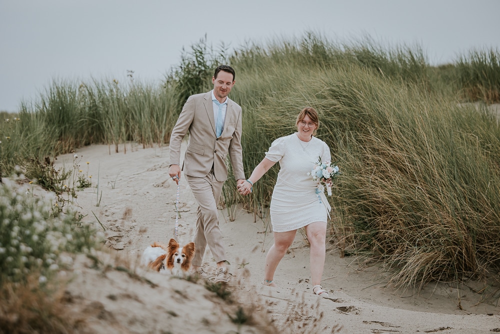
[[[485,108],[460,107],[459,94],[440,86],[445,82],[418,50],[343,50],[309,37],[232,59],[242,79],[231,94],[246,111],[245,172],[273,139],[295,131],[302,107],[315,107],[318,137],[343,170],[331,198],[342,251],[391,267],[396,286],[489,271],[498,279],[495,117]],[[268,205],[277,170],[242,199],[254,210],[253,203]]]

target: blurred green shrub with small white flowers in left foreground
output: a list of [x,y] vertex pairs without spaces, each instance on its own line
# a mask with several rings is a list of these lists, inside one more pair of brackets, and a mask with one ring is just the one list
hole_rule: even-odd
[[65,265],[62,252],[88,252],[96,245],[96,233],[78,221],[68,207],[54,215],[56,197],[42,198],[22,178],[4,178],[0,184],[0,285],[22,281],[40,273],[40,281]]

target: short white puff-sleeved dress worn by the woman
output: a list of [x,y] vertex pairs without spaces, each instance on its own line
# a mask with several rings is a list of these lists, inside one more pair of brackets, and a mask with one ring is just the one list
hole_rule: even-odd
[[330,161],[326,143],[315,137],[303,142],[294,133],[274,140],[265,157],[280,166],[270,204],[272,230],[286,232],[326,222],[330,206],[322,192],[316,193],[318,182],[307,175],[319,157]]

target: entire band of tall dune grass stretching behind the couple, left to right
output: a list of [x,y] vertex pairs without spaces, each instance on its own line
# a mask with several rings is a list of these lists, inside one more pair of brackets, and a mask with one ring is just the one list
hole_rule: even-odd
[[[8,171],[23,159],[92,143],[115,151],[127,141],[166,144],[186,96],[210,89],[213,68],[227,62],[236,70],[230,97],[243,108],[246,175],[274,139],[295,131],[301,108],[318,110],[317,136],[343,172],[329,222],[341,254],[380,261],[392,270],[390,283],[403,287],[498,279],[500,130],[485,105],[463,104],[467,87],[481,87],[475,98],[496,101],[498,58],[472,53],[435,68],[418,46],[370,39],[340,44],[306,34],[249,43],[231,55],[201,40],[161,87],[54,82],[39,102],[22,105],[20,122],[1,122],[0,166]],[[278,169],[247,197],[237,195],[230,178],[225,204],[239,200],[267,223]]]

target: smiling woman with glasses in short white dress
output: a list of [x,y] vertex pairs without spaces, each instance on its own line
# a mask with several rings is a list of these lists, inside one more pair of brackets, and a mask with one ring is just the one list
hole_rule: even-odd
[[[274,140],[265,158],[238,188],[242,195],[249,194],[253,184],[279,162],[280,169],[270,203],[274,244],[265,257],[263,284],[276,286],[272,281],[274,271],[293,242],[297,229],[305,227],[310,243],[312,292],[327,297],[328,292],[321,287],[321,276],[330,206],[324,193],[317,191],[318,181],[313,181],[307,173],[310,173],[318,157],[321,161],[330,161],[330,151],[326,143],[313,136],[319,126],[314,108],[302,109],[295,125],[298,131]],[[329,183],[331,185],[331,181]]]

